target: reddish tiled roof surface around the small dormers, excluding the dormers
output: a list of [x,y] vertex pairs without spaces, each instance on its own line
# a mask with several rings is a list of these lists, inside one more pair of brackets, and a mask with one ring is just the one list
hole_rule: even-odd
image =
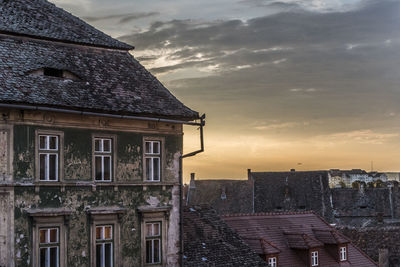
[[[313,229],[324,231],[336,231],[321,217],[313,212],[282,212],[282,213],[262,213],[262,214],[234,214],[222,216],[222,219],[231,226],[242,238],[263,238],[271,242],[281,252],[279,253],[279,266],[303,267],[305,263],[302,257],[299,257],[299,250],[302,245],[308,244],[308,247],[315,248],[319,246],[320,266],[354,266],[368,267],[377,266],[368,256],[361,252],[352,243],[348,243],[348,261],[339,263],[325,249],[322,241],[318,241]],[[296,236],[297,235],[297,236]],[[340,235],[340,234],[338,234]],[[288,236],[290,236],[288,238]],[[293,236],[303,239],[291,240]],[[305,237],[305,238],[304,238]],[[244,239],[245,241],[247,239]],[[297,243],[294,244],[293,242]],[[253,249],[253,243],[248,243]],[[311,245],[311,246],[310,246]],[[292,249],[295,247],[296,249]]]

